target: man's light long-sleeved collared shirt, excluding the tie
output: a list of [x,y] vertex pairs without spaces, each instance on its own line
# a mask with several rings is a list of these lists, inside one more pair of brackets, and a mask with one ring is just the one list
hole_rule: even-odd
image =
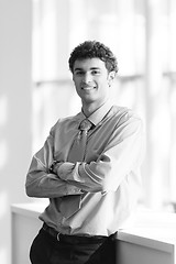
[[[68,153],[82,112],[59,119],[44,146],[33,156],[26,176],[26,194],[50,198],[40,219],[58,232],[79,235],[110,235],[125,227],[141,185],[140,166],[144,152],[143,124],[130,109],[106,102],[89,120],[84,162],[70,163]],[[57,175],[50,172],[59,161]],[[62,216],[63,196],[81,196],[80,208]]]

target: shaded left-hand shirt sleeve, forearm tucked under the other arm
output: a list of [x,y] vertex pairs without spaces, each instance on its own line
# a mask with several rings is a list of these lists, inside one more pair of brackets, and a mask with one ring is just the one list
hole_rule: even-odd
[[44,146],[33,156],[25,182],[26,195],[40,198],[56,198],[66,195],[81,194],[80,188],[50,173],[53,163],[53,134],[45,141]]

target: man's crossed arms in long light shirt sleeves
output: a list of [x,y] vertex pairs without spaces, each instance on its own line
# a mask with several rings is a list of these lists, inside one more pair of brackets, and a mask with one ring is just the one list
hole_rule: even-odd
[[90,163],[58,161],[51,173],[54,135],[33,156],[26,175],[30,197],[57,198],[85,191],[116,191],[127,175],[139,168],[143,157],[143,125],[140,119],[124,120],[111,134],[108,144]]

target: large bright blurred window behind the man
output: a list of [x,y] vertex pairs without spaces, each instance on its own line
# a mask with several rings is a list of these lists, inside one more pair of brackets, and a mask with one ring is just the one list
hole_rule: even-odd
[[110,46],[119,62],[112,95],[146,127],[142,202],[174,211],[176,201],[175,0],[33,0],[33,106],[36,151],[58,118],[80,110],[68,70],[85,40]]

